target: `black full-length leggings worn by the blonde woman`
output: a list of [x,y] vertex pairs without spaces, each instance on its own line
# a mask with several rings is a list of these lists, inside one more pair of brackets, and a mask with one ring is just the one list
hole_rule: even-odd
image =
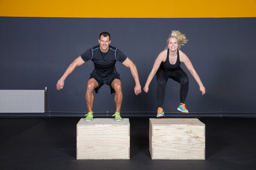
[[159,108],[163,107],[166,83],[169,78],[174,79],[174,81],[177,81],[179,84],[181,84],[180,102],[185,103],[186,101],[186,96],[188,94],[188,76],[186,72],[184,72],[181,68],[167,71],[159,68],[159,70],[156,72],[156,98]]

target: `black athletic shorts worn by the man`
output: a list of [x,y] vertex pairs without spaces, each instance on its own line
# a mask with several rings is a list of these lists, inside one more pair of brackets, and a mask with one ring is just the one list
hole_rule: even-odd
[[115,91],[114,89],[112,88],[111,84],[112,82],[114,81],[114,79],[120,79],[120,74],[118,74],[117,72],[115,72],[114,74],[110,74],[108,75],[107,77],[100,77],[99,74],[95,73],[95,72],[92,72],[90,74],[90,78],[89,79],[95,79],[98,83],[99,86],[97,86],[97,88],[95,88],[95,92],[97,94],[97,92],[99,91],[100,87],[103,85],[103,84],[107,84],[108,86],[110,86],[110,94],[113,94]]

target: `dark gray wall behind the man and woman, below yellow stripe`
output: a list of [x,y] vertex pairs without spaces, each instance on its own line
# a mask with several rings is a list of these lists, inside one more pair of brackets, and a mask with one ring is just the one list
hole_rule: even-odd
[[[188,55],[206,86],[190,79],[189,111],[255,111],[256,18],[11,18],[0,17],[0,89],[44,89],[50,111],[86,111],[85,87],[92,62],[75,69],[62,91],[55,84],[68,65],[89,47],[100,32],[112,35],[136,65],[142,88],[154,60],[166,46],[171,30],[181,30]],[[135,96],[129,69],[117,63],[124,100],[122,111],[155,111],[156,79],[149,94]],[[169,80],[164,108],[176,111],[179,85]],[[114,111],[114,95],[103,86],[95,95],[94,111]]]

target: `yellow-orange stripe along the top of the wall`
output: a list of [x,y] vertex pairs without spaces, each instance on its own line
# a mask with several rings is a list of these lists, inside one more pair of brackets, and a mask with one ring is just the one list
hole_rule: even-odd
[[0,16],[240,18],[256,17],[256,0],[0,0]]

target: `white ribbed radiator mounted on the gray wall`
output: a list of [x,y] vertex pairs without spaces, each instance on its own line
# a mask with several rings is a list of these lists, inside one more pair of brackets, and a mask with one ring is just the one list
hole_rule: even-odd
[[44,90],[0,90],[0,113],[44,112]]

